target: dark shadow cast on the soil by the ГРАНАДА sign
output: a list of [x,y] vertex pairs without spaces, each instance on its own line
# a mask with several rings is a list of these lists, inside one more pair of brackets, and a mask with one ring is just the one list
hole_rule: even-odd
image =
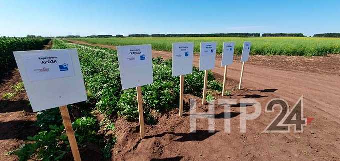
[[209,132],[208,130],[196,130],[196,132],[191,133],[174,133],[174,132],[164,132],[161,134],[153,135],[153,136],[145,136],[146,139],[153,138],[153,137],[163,137],[166,134],[181,136],[181,138],[176,139],[176,142],[186,142],[186,141],[203,141],[214,134],[218,133],[219,131]]

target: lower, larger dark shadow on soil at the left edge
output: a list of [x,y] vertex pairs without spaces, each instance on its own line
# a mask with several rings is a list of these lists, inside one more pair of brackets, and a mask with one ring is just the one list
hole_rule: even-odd
[[0,140],[19,139],[25,140],[28,136],[36,134],[37,127],[31,120],[13,120],[0,122]]

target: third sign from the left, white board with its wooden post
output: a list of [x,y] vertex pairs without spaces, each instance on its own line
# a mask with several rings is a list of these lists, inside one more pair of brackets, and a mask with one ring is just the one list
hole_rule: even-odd
[[193,43],[172,43],[172,76],[180,76],[179,116],[183,115],[184,75],[192,73]]

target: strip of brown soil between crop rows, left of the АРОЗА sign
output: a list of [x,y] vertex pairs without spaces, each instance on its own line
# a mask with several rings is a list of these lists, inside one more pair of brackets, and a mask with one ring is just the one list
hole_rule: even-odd
[[[52,41],[43,49],[52,47]],[[36,113],[29,105],[26,92],[15,92],[13,85],[22,82],[20,72],[14,69],[4,73],[0,81],[0,160],[18,160],[15,155],[10,155],[24,143],[28,136],[37,132],[34,122]],[[11,99],[3,99],[5,93],[16,93]]]

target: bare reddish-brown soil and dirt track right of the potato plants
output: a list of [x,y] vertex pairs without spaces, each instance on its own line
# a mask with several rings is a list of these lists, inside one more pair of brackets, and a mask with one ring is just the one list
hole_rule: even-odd
[[[73,43],[85,42],[72,41]],[[98,45],[115,49],[114,46]],[[152,51],[152,55],[170,58],[170,52]],[[228,66],[228,87],[235,88],[240,76],[241,63],[235,56]],[[221,56],[217,56],[216,75],[223,74]],[[198,66],[199,55],[194,57]],[[116,121],[117,144],[113,160],[340,160],[340,55],[327,57],[251,56],[245,64],[243,86],[231,97],[256,98],[262,112],[255,120],[247,121],[247,132],[240,133],[239,106],[231,107],[231,118],[223,117],[224,108],[215,108],[215,132],[208,133],[207,119],[197,120],[197,133],[189,131],[188,99],[197,99],[197,111],[206,112],[201,99],[185,95],[185,116],[178,110],[160,116],[157,125],[146,126],[146,136],[139,139],[137,122]],[[232,81],[234,83],[230,83]],[[266,90],[265,90],[266,89]],[[304,127],[303,133],[263,133],[266,126],[279,113],[265,112],[272,98],[283,98],[290,106],[303,95],[304,117],[314,120]],[[215,95],[215,99],[221,96]],[[247,112],[254,111],[247,106]],[[224,132],[224,121],[231,121],[231,133]]]

